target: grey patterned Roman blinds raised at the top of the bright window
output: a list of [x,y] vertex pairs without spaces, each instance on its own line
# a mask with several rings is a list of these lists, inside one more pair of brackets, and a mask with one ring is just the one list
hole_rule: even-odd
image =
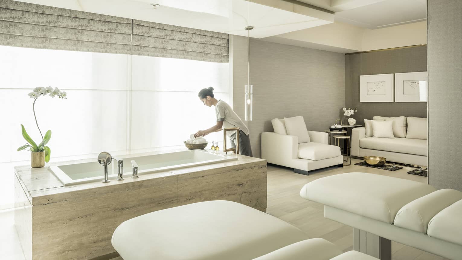
[[228,34],[0,0],[0,44],[228,62]]

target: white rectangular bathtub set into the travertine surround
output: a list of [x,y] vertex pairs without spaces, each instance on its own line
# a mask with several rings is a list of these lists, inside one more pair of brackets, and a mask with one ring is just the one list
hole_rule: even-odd
[[[116,158],[123,160],[124,178],[132,176],[132,160],[138,164],[138,175],[237,160],[236,156],[213,154],[204,150],[177,151],[137,157],[125,155],[116,156]],[[95,162],[90,163],[50,166],[49,170],[65,186],[104,179],[104,168],[96,159]],[[108,166],[108,175],[110,181],[117,181],[116,160]]]

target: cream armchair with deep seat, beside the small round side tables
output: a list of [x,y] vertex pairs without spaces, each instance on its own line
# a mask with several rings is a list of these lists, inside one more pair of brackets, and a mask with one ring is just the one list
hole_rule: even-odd
[[[281,119],[279,119],[281,120]],[[303,126],[301,126],[303,127]],[[278,128],[275,127],[275,130]],[[306,125],[304,126],[306,130]],[[343,167],[340,147],[328,145],[328,133],[307,131],[309,142],[299,143],[296,135],[275,132],[261,133],[261,158],[268,163],[294,169],[294,172],[308,175],[308,172],[329,166]]]

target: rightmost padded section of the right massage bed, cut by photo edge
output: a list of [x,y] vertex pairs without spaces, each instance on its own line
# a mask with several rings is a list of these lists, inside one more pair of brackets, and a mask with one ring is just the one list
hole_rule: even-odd
[[462,200],[440,211],[428,224],[427,234],[462,245]]

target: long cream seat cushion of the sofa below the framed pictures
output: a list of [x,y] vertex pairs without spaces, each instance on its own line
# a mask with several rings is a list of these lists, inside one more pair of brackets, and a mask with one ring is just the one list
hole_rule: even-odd
[[409,138],[362,138],[359,147],[427,156],[427,140]]

